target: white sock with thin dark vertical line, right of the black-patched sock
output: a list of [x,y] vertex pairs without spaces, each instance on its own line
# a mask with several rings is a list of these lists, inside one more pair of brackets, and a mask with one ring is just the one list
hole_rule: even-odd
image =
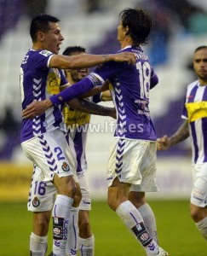
[[78,207],[71,207],[66,241],[66,255],[77,255],[78,251]]

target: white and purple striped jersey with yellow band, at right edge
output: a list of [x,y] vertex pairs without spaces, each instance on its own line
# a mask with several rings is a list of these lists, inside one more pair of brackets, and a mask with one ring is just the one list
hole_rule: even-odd
[[207,86],[200,85],[198,80],[187,86],[181,117],[189,123],[193,163],[207,162]]

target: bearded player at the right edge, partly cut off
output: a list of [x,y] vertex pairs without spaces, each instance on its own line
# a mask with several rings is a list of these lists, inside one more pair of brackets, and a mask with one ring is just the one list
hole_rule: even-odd
[[207,46],[194,51],[193,67],[198,80],[187,86],[181,127],[171,137],[157,140],[158,150],[166,150],[187,137],[192,142],[193,189],[190,212],[200,234],[207,241]]

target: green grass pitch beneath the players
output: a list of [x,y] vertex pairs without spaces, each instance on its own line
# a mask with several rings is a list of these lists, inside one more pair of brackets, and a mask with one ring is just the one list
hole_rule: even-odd
[[[149,201],[156,214],[161,247],[170,256],[206,256],[207,243],[189,214],[188,201]],[[0,202],[0,255],[28,256],[32,213],[26,202]],[[105,201],[94,201],[90,220],[95,234],[95,256],[145,256],[144,250]],[[52,235],[49,231],[49,250]]]

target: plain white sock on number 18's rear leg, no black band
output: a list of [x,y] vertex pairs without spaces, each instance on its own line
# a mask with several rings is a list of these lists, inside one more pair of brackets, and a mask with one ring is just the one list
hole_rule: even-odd
[[155,216],[154,216],[154,212],[152,211],[152,208],[146,203],[141,207],[139,207],[138,211],[141,213],[141,217],[144,220],[146,229],[149,231],[153,240],[156,241],[158,244],[157,226],[156,226],[156,220],[155,220]]

